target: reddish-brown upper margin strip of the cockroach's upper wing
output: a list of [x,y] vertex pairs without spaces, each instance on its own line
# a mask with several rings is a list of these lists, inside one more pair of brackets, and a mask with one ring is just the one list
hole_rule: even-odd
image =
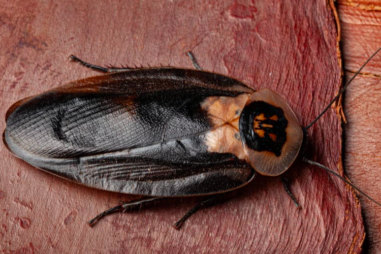
[[255,91],[244,83],[224,75],[179,68],[147,68],[115,72],[76,80],[53,90],[62,93],[96,92],[137,95],[189,88],[218,89],[232,92]]

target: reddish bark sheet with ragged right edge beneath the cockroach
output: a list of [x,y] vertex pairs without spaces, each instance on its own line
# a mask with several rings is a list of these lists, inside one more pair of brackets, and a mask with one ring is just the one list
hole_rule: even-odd
[[[339,89],[337,31],[325,1],[294,2],[2,1],[1,115],[19,99],[96,74],[68,61],[71,53],[100,64],[193,68],[185,56],[192,50],[205,70],[275,90],[306,124]],[[310,157],[341,170],[334,108],[309,135]],[[0,154],[5,253],[359,253],[364,239],[351,190],[300,161],[287,176],[302,209],[279,178],[258,177],[239,198],[198,212],[175,231],[171,225],[199,199],[113,214],[89,228],[96,213],[135,197],[49,175],[4,145]]]

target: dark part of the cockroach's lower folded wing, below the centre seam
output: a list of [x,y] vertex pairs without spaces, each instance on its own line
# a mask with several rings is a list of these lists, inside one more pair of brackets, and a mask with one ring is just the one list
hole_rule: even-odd
[[90,187],[146,196],[226,192],[249,182],[254,171],[231,154],[200,149],[203,135],[77,158],[36,157],[30,164]]

